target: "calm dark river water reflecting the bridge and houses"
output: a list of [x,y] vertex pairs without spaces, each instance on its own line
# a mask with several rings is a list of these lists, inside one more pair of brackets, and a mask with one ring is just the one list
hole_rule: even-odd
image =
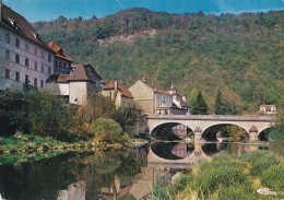
[[244,154],[247,143],[152,143],[133,150],[69,152],[52,158],[0,166],[0,193],[8,200],[141,199],[157,183],[220,151]]

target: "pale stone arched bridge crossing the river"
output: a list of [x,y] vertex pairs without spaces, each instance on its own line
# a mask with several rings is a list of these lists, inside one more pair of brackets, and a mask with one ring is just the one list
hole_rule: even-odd
[[263,130],[275,125],[275,118],[271,116],[149,115],[146,118],[151,134],[165,126],[185,125],[194,132],[196,140],[200,140],[202,133],[213,126],[235,125],[246,130],[250,141],[257,141]]

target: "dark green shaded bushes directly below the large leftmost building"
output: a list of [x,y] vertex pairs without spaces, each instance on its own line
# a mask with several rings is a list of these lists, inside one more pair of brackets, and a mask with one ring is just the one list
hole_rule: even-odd
[[[63,134],[73,122],[73,109],[63,99],[46,91],[23,93],[5,91],[0,95],[1,116],[5,126],[36,134]],[[5,125],[7,123],[7,125]]]

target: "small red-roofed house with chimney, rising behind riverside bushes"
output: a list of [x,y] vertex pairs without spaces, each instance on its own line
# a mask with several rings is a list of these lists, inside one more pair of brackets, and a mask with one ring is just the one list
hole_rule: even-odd
[[103,96],[110,97],[116,107],[133,107],[133,96],[131,92],[117,81],[109,81],[102,91]]

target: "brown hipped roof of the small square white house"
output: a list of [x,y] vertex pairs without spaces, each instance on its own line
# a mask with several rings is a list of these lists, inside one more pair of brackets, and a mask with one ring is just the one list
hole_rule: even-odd
[[78,64],[76,68],[74,69],[74,72],[68,79],[68,81],[91,81],[91,82],[96,82],[97,80],[102,80],[102,78],[90,63]]

